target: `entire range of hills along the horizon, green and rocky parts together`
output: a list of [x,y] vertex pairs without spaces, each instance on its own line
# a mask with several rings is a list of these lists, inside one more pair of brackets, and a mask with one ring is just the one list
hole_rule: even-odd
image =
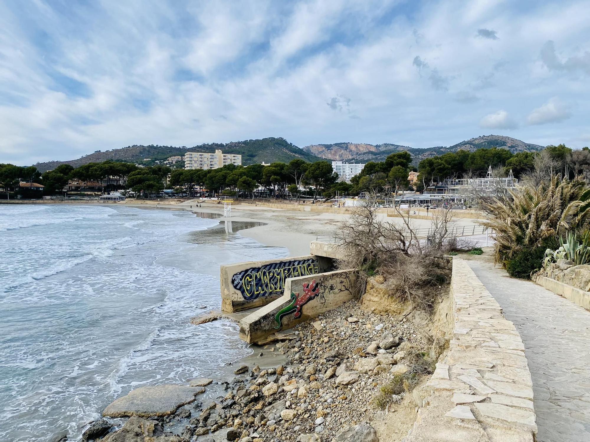
[[191,148],[182,146],[127,146],[122,149],[113,149],[100,151],[83,156],[75,160],[68,161],[47,161],[37,163],[35,167],[41,172],[55,169],[60,164],[71,164],[73,167],[82,166],[87,163],[100,163],[101,161],[113,160],[124,161],[129,163],[144,164],[146,166],[154,164],[157,160],[165,160],[171,156],[182,156],[186,152],[208,152],[212,153],[215,149],[221,149],[224,153],[240,154],[242,164],[272,163],[273,161],[282,161],[287,163],[293,159],[300,158],[306,161],[318,161],[322,159],[337,161],[356,161],[366,163],[367,161],[383,161],[392,153],[408,151],[412,154],[412,163],[417,165],[425,158],[434,157],[447,152],[457,150],[474,151],[477,149],[499,147],[510,150],[512,153],[534,152],[544,149],[544,146],[538,144],[525,143],[516,140],[516,138],[504,137],[499,135],[486,135],[470,140],[461,141],[453,146],[444,147],[427,147],[419,149],[399,144],[366,144],[366,143],[334,143],[334,144],[312,144],[305,146],[303,149],[295,146],[284,138],[262,138],[261,140],[244,140],[234,141],[232,143],[208,143],[200,144]]

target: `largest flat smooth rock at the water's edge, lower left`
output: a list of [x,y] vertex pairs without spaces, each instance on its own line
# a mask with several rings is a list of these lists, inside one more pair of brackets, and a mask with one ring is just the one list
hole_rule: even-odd
[[195,401],[195,396],[204,391],[202,387],[186,385],[140,387],[108,405],[103,411],[103,416],[166,416],[174,414],[182,405]]

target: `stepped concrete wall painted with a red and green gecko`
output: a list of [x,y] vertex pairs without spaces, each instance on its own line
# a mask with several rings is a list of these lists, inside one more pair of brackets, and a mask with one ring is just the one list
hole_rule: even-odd
[[284,295],[240,321],[240,337],[251,344],[316,318],[357,295],[356,271],[289,278]]

